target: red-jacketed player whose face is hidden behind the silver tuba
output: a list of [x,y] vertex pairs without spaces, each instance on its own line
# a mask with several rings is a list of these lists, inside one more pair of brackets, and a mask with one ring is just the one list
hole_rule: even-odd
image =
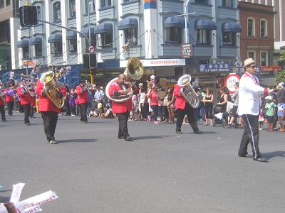
[[[177,80],[179,77],[176,76]],[[195,119],[195,111],[192,109],[192,107],[190,107],[190,104],[185,100],[185,97],[180,94],[180,89],[182,89],[182,87],[180,87],[178,84],[175,84],[173,95],[175,95],[175,109],[177,109],[176,133],[182,133],[182,121],[184,116],[187,115],[188,122],[192,127],[194,133],[201,134],[203,131],[199,131],[197,121]]]

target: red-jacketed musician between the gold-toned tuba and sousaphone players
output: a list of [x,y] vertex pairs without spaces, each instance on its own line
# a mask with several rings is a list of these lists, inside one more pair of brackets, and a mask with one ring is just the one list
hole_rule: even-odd
[[81,84],[76,87],[76,93],[78,94],[78,102],[79,107],[81,109],[81,122],[84,124],[88,124],[86,113],[89,102],[89,94],[88,89],[86,87],[86,83],[83,80],[81,80]]

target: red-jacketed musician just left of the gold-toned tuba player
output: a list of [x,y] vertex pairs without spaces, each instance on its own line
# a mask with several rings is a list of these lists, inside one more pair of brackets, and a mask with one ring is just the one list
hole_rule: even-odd
[[22,84],[17,87],[17,93],[20,97],[20,104],[24,109],[24,123],[27,126],[30,126],[30,121],[28,119],[28,116],[30,116],[30,110],[31,110],[31,104],[30,104],[30,94],[28,93],[28,90],[26,89],[26,80],[22,80]]

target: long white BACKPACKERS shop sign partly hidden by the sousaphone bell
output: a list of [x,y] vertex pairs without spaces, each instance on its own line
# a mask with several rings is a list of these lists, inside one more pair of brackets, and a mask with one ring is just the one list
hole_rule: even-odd
[[[145,59],[140,60],[143,67],[172,67],[185,66],[185,58]],[[127,67],[128,60],[120,60],[120,67]]]

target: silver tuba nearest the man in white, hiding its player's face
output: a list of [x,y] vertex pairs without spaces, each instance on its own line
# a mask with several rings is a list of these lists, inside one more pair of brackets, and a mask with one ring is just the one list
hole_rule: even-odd
[[[194,109],[199,107],[199,95],[195,92],[191,85],[191,76],[190,75],[182,75],[179,78],[177,84],[182,87],[180,89],[180,93],[183,97],[185,97],[186,101],[190,104],[190,106]],[[185,92],[185,90],[187,92]]]

